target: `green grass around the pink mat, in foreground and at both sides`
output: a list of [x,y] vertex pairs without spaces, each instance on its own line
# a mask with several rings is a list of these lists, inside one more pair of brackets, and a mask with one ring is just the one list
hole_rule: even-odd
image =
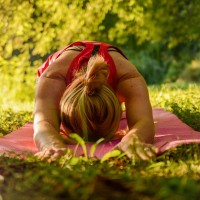
[[[195,84],[151,86],[152,106],[175,113],[200,131],[199,88]],[[2,135],[32,120],[32,102],[19,102],[17,109],[8,105],[0,110]],[[103,163],[79,158],[48,164],[32,156],[25,160],[0,156],[0,194],[9,200],[198,200],[200,144],[182,145],[149,161],[124,156]]]

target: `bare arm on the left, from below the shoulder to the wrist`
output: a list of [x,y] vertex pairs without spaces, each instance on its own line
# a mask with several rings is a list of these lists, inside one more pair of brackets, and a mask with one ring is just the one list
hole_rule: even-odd
[[42,75],[36,86],[34,110],[34,140],[39,151],[61,145],[59,102],[65,82]]

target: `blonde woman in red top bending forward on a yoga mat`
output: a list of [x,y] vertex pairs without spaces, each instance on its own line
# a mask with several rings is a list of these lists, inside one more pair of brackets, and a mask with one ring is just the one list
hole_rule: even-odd
[[93,41],[75,42],[51,55],[38,70],[34,140],[42,160],[62,156],[60,133],[86,141],[114,137],[125,102],[128,131],[118,148],[143,160],[158,152],[146,83],[120,49]]

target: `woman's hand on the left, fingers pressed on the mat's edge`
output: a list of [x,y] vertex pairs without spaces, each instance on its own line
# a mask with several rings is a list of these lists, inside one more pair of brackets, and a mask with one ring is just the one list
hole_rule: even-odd
[[36,153],[35,156],[42,161],[47,161],[51,163],[64,156],[66,153],[70,152],[69,149],[64,145],[50,145],[48,147],[45,147],[40,152]]

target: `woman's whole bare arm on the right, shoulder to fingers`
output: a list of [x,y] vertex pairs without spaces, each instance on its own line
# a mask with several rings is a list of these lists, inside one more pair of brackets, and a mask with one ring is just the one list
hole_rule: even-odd
[[127,60],[118,60],[118,95],[126,105],[129,131],[118,148],[129,157],[147,160],[158,153],[154,143],[154,121],[148,88],[144,78]]

